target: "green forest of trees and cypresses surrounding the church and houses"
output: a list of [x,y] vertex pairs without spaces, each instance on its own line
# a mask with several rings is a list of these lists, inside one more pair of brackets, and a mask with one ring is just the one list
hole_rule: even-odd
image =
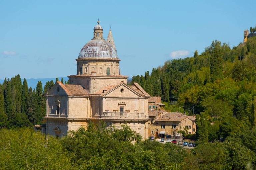
[[31,126],[43,123],[54,82],[32,89],[17,75],[0,84],[0,169],[255,169],[256,37],[232,49],[213,41],[201,54],[168,60],[133,82],[161,96],[168,111],[184,106],[193,115],[194,108],[195,148],[142,140],[127,126],[104,123],[46,138]]

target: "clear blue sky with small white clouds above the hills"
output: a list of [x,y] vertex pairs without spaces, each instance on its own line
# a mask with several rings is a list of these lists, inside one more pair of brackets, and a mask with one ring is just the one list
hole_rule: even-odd
[[121,74],[141,75],[195,49],[201,53],[213,40],[237,45],[256,24],[255,7],[238,0],[1,0],[0,79],[76,74],[75,59],[98,18],[105,39],[111,25]]

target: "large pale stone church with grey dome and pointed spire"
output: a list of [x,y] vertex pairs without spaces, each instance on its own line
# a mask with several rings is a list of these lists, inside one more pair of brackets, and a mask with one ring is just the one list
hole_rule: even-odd
[[68,76],[69,84],[58,81],[46,95],[44,132],[62,137],[103,121],[107,127],[127,124],[146,139],[150,95],[138,83],[127,85],[128,76],[120,74],[111,30],[106,41],[98,22],[76,61],[77,74]]

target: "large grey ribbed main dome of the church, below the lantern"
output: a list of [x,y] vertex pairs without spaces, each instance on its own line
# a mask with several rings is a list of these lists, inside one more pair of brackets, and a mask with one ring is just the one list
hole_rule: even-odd
[[106,40],[92,39],[83,46],[78,58],[117,58],[117,53]]

